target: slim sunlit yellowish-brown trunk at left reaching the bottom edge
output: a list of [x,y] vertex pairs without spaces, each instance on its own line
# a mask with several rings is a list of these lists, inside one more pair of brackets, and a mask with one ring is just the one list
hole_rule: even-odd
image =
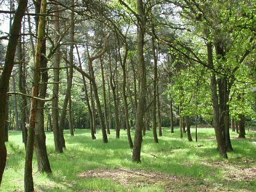
[[[46,0],[42,0],[41,14],[46,13]],[[40,16],[38,24],[37,45],[35,52],[35,64],[34,64],[34,76],[33,76],[33,88],[31,95],[38,97],[39,94],[39,81],[40,81],[40,67],[41,67],[41,53],[42,53],[42,41],[44,37],[45,16]],[[26,147],[25,158],[25,173],[24,173],[24,190],[34,191],[34,182],[32,176],[32,162],[33,162],[33,150],[35,141],[35,126],[37,115],[37,100],[31,100],[29,128],[28,128],[28,141]]]

